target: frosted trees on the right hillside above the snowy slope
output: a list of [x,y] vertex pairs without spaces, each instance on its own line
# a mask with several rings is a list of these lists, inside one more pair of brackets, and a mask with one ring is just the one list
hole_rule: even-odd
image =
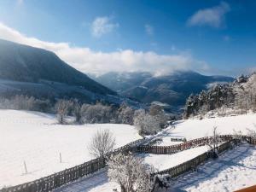
[[188,119],[212,110],[225,114],[227,109],[231,109],[232,113],[256,111],[256,73],[249,77],[241,76],[232,84],[216,84],[210,90],[189,96],[183,117]]

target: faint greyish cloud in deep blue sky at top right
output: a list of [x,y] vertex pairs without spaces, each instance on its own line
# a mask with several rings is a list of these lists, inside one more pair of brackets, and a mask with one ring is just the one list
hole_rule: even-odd
[[200,9],[188,20],[189,26],[220,27],[224,24],[224,15],[230,11],[230,5],[221,2],[218,6],[209,9]]

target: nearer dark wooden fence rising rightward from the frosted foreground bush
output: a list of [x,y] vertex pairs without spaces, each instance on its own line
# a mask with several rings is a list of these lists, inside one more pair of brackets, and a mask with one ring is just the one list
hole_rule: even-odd
[[[242,137],[242,139],[247,140],[248,143],[256,145],[256,139],[253,139],[252,137]],[[231,139],[228,142],[225,142],[221,145],[218,146],[217,150],[218,153],[222,153],[225,150],[229,149],[232,147],[232,142],[236,142],[236,139]],[[209,160],[211,158],[211,154],[209,153],[209,151],[207,151],[204,154],[200,154],[199,156],[193,158],[192,160],[188,160],[180,165],[174,166],[170,169],[166,169],[160,172],[154,172],[154,175],[165,175],[165,174],[169,174],[170,177],[177,177],[185,172],[189,172],[191,170],[195,170],[196,166],[199,166],[201,163],[206,162],[207,160]]]

